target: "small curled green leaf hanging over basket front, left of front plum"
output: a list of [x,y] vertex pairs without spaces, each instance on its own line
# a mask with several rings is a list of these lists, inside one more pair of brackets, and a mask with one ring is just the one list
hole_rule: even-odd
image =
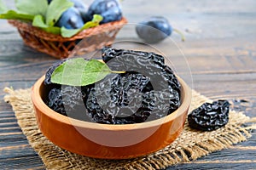
[[47,26],[44,23],[44,17],[40,14],[36,15],[34,17],[34,20],[32,21],[32,26],[37,26],[41,28],[42,30],[46,32],[50,32],[53,34],[61,34],[61,28],[57,26]]

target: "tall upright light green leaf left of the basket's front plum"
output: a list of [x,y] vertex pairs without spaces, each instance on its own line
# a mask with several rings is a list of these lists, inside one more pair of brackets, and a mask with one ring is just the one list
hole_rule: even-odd
[[46,12],[46,25],[55,26],[55,23],[60,19],[61,14],[67,8],[73,7],[73,3],[68,0],[53,0],[49,3],[49,8]]

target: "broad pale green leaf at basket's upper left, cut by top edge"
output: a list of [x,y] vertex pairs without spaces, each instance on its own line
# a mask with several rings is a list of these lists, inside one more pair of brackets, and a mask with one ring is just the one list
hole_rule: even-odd
[[41,14],[45,17],[48,1],[47,0],[15,0],[15,6],[22,14]]

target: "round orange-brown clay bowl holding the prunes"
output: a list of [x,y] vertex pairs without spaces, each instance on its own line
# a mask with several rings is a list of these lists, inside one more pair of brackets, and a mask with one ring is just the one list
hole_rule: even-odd
[[172,114],[150,122],[106,125],[62,116],[44,104],[44,77],[32,88],[32,103],[41,132],[62,149],[95,158],[126,159],[160,150],[182,132],[191,91],[181,78],[178,80],[182,104]]

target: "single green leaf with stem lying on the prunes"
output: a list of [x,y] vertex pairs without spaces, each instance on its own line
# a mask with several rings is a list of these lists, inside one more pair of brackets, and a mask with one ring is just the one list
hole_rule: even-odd
[[86,86],[102,80],[109,73],[125,73],[125,71],[111,71],[108,65],[96,59],[69,59],[55,69],[51,82]]

